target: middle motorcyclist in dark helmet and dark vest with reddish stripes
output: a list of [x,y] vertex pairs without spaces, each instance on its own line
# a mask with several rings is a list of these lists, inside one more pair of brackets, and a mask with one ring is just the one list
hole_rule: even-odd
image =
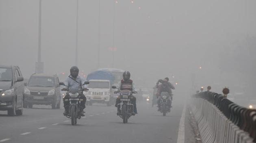
[[[123,79],[119,82],[119,90],[130,90],[130,91],[135,91],[135,85],[132,82],[132,80],[130,79],[130,72],[129,71],[125,71],[123,74]],[[120,101],[120,96],[117,97],[116,102],[115,102],[115,107],[117,107],[117,105],[119,103],[121,103]],[[130,95],[130,100],[131,103],[134,106],[134,113],[132,113],[133,115],[137,114],[137,107],[136,107],[136,98],[133,95]],[[118,108],[117,108],[118,110]],[[119,115],[118,111],[117,111],[117,115]]]

